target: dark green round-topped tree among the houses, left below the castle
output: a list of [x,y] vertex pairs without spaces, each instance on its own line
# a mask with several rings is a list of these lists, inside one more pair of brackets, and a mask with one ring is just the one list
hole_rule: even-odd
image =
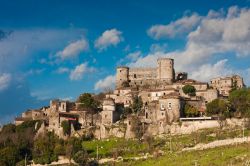
[[91,114],[91,123],[93,125],[93,115],[97,113],[100,103],[90,93],[80,95],[77,102],[80,103],[82,109],[87,110]]

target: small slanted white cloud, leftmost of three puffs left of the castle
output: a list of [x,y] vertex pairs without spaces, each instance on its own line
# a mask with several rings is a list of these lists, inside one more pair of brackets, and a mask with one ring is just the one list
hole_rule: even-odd
[[78,56],[82,51],[86,51],[89,44],[85,39],[77,40],[67,45],[62,51],[57,53],[61,59],[70,59]]

